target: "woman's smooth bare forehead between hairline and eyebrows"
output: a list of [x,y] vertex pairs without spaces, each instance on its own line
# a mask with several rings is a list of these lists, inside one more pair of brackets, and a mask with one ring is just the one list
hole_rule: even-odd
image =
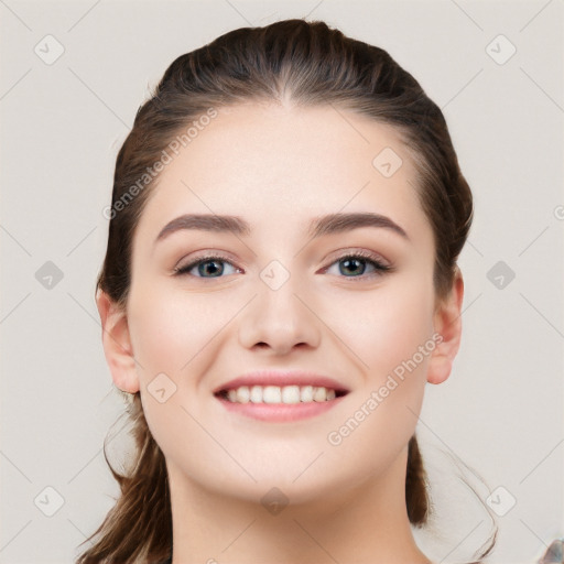
[[[415,170],[391,126],[334,106],[220,108],[161,172],[139,230],[180,214],[231,214],[271,229],[338,212],[425,229]],[[268,224],[264,224],[268,219]]]

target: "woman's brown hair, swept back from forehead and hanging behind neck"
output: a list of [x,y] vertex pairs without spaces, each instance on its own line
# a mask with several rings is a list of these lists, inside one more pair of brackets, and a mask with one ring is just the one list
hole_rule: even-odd
[[[117,156],[108,248],[97,290],[126,307],[134,229],[159,177],[147,188],[139,181],[171,141],[210,109],[285,97],[302,106],[350,109],[399,131],[414,160],[414,189],[434,232],[436,295],[448,294],[471,224],[473,197],[443,113],[386,51],[324,22],[297,19],[231,31],[177,57],[165,70],[152,97],[139,108]],[[90,536],[98,536],[97,542],[77,564],[159,562],[171,556],[164,455],[148,427],[139,392],[132,394],[128,413],[138,446],[133,469],[118,474],[105,449],[121,497]],[[423,525],[430,501],[415,435],[409,442],[405,499],[410,522]]]

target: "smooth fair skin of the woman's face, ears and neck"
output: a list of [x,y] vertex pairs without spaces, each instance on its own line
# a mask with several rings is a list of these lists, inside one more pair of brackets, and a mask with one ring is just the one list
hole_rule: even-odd
[[[449,295],[435,295],[413,161],[392,127],[350,110],[284,100],[218,111],[151,194],[127,308],[97,296],[113,382],[141,392],[166,459],[173,564],[429,564],[406,514],[408,442],[425,383],[451,373],[464,284],[457,271]],[[384,148],[403,161],[391,177],[372,165]],[[354,212],[387,216],[408,237],[386,227],[307,235],[311,220]],[[155,242],[183,214],[235,215],[250,232],[184,229]],[[390,270],[347,263],[355,251]],[[224,262],[175,274],[209,253]],[[261,278],[272,261],[290,276],[276,290]],[[330,444],[328,434],[436,334],[442,343],[416,369]],[[213,391],[258,369],[313,370],[350,393],[292,423],[228,412]],[[176,387],[163,403],[148,390],[160,373]],[[289,501],[278,514],[261,503],[274,487]]]

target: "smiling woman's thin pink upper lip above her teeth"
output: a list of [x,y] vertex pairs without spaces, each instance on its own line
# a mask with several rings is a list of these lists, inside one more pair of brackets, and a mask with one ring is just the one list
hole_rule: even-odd
[[241,375],[214,390],[219,393],[224,390],[232,390],[241,386],[316,386],[335,391],[348,392],[348,388],[333,378],[307,371],[290,370],[260,370]]

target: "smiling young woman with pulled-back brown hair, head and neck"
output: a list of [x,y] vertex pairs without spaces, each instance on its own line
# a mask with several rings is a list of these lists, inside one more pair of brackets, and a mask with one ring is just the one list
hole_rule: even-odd
[[417,82],[323,22],[227,33],[139,109],[107,214],[138,453],[78,563],[430,563],[415,424],[473,199]]

